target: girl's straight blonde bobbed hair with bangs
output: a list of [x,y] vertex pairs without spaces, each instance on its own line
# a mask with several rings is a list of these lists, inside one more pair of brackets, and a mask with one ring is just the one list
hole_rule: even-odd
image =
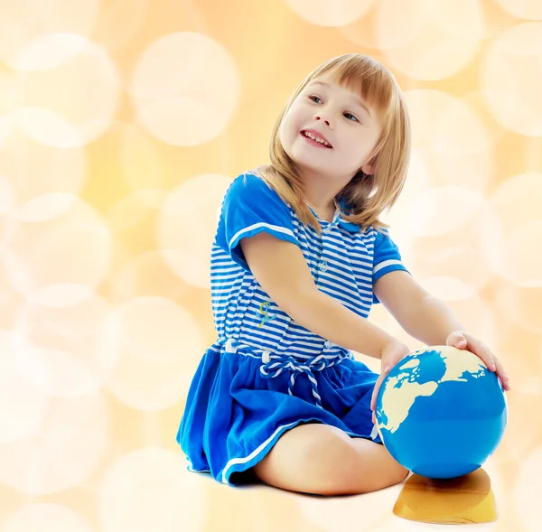
[[377,108],[382,121],[382,133],[369,160],[374,173],[361,170],[335,197],[342,218],[366,229],[387,228],[378,219],[397,201],[405,184],[410,159],[410,122],[406,103],[393,74],[378,61],[360,54],[346,54],[325,61],[314,69],[294,91],[276,120],[269,145],[270,164],[258,167],[256,173],[289,203],[298,218],[318,232],[318,219],[304,202],[302,182],[294,161],[285,153],[279,131],[294,99],[314,78],[331,72],[337,82],[349,89],[359,90],[360,96]]

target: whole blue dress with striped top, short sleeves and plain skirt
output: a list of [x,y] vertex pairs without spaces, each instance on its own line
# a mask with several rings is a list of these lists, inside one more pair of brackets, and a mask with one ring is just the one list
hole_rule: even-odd
[[[315,213],[314,213],[315,214]],[[251,274],[239,243],[265,231],[301,248],[314,282],[367,318],[381,275],[406,270],[388,231],[360,230],[335,213],[322,235],[256,174],[226,192],[211,250],[217,341],[192,379],[177,433],[190,471],[229,485],[260,462],[285,431],[305,423],[381,443],[371,421],[378,374],[349,350],[308,331],[274,303]]]

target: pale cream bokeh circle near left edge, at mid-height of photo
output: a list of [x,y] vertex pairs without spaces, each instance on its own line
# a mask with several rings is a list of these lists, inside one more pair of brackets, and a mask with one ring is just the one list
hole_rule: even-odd
[[88,297],[110,268],[107,223],[89,203],[70,194],[43,194],[32,203],[5,254],[14,289],[50,306]]

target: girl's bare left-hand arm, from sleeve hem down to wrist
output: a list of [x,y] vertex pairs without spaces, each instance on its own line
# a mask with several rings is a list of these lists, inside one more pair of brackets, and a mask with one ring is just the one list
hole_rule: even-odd
[[309,331],[377,359],[392,346],[405,354],[408,352],[406,346],[386,331],[323,294],[315,285],[299,247],[267,233],[243,238],[240,246],[259,285],[285,313]]

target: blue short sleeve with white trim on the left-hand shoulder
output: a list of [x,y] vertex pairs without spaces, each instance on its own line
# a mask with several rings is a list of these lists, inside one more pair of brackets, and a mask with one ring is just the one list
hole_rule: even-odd
[[292,214],[285,201],[257,175],[241,174],[231,183],[222,201],[217,244],[248,270],[239,244],[243,238],[261,232],[298,245]]

